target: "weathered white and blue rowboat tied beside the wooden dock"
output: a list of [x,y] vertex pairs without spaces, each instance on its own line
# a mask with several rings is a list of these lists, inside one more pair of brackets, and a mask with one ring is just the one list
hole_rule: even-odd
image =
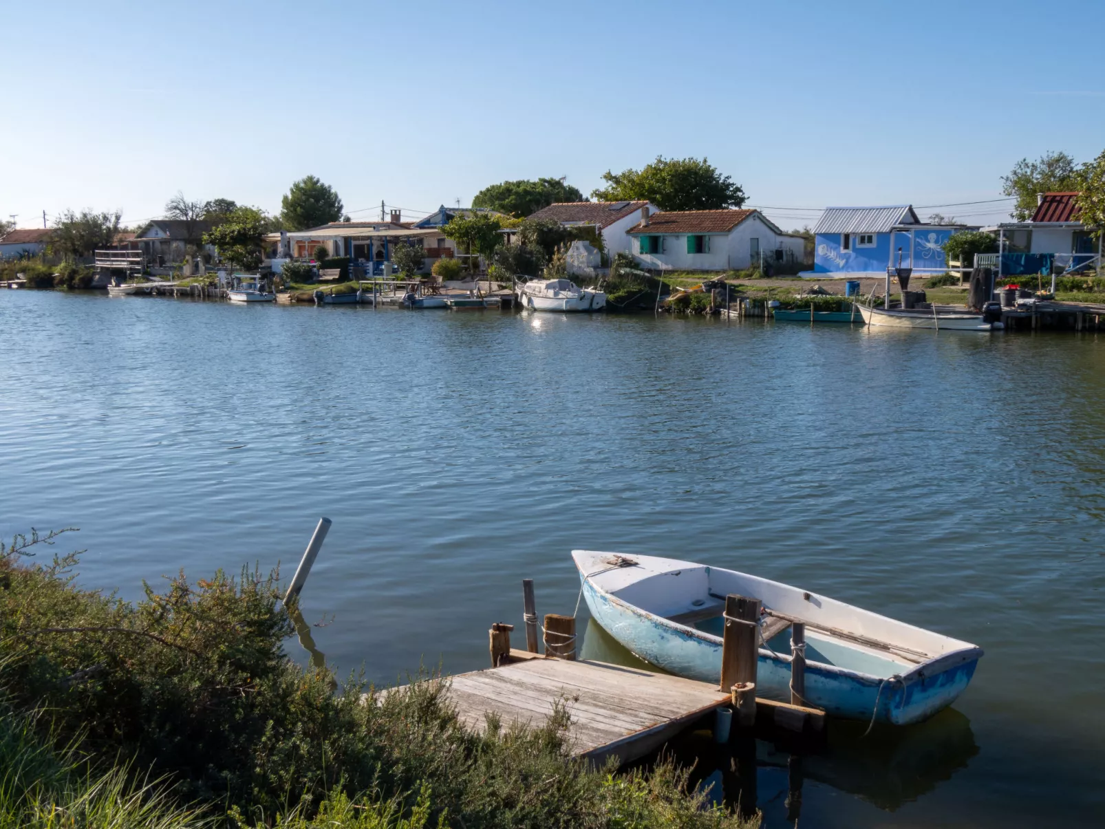
[[717,682],[725,597],[760,599],[757,695],[790,700],[791,622],[806,625],[809,705],[905,725],[950,705],[982,649],[798,587],[653,556],[572,550],[592,618],[618,642],[677,676]]

